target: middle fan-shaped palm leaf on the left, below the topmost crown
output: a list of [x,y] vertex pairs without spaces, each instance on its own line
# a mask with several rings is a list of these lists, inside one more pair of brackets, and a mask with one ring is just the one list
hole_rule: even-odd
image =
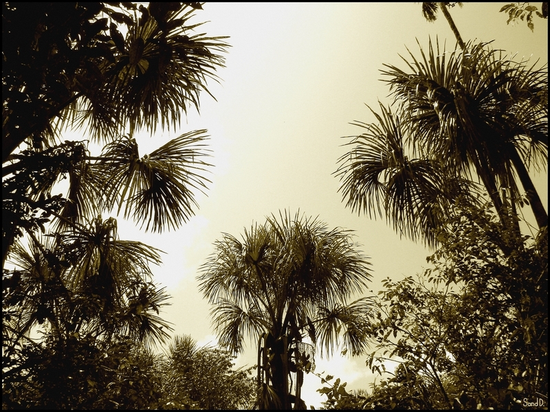
[[203,141],[206,130],[185,133],[140,158],[135,139],[121,139],[105,147],[100,161],[106,188],[107,207],[124,207],[124,217],[132,216],[153,231],[176,229],[186,222],[197,206],[193,190],[206,188],[203,176],[210,166]]

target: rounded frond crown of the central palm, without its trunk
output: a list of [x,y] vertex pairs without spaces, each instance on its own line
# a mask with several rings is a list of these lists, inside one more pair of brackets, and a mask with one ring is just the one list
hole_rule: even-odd
[[[367,319],[366,311],[352,314],[347,306],[371,279],[368,258],[351,235],[299,211],[272,214],[263,225],[245,229],[240,240],[224,233],[198,276],[201,292],[214,305],[219,343],[241,352],[245,336],[254,339],[270,330],[274,336],[299,334],[301,340],[313,325],[331,352],[339,324]],[[364,299],[354,304],[358,308]],[[351,352],[362,352],[359,331],[347,333]]]

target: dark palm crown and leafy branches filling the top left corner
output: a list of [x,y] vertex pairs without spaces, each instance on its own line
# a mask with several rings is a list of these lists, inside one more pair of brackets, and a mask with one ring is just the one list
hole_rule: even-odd
[[229,47],[193,34],[203,24],[189,22],[197,8],[3,3],[2,163],[25,141],[56,145],[67,125],[104,142],[126,128],[176,128],[201,91],[210,94]]

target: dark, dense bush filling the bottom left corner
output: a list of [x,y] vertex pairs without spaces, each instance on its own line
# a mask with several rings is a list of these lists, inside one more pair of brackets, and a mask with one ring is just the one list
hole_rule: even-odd
[[25,373],[3,374],[2,409],[157,409],[155,358],[130,339],[93,336],[25,345]]

